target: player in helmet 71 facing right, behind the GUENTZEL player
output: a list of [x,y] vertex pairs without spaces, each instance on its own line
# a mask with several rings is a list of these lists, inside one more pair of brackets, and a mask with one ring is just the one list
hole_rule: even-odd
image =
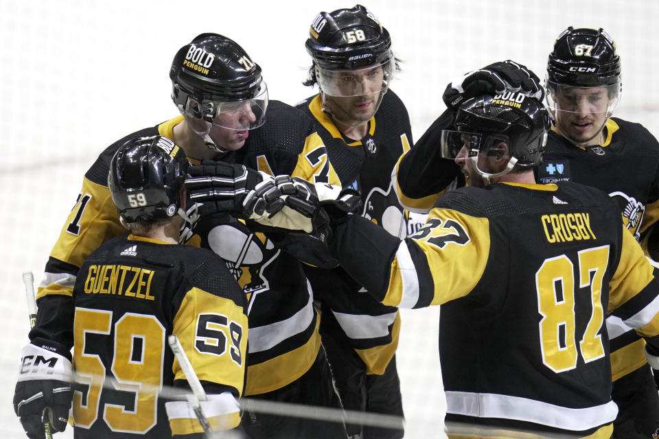
[[[204,192],[199,181],[205,173],[235,182],[232,193],[244,193],[264,174],[325,182],[327,190],[338,187],[313,122],[291,106],[268,102],[261,68],[233,40],[218,34],[196,36],[176,52],[170,79],[172,99],[181,115],[128,134],[100,154],[87,171],[78,202],[51,252],[38,300],[71,296],[84,258],[102,242],[125,234],[109,197],[106,175],[109,159],[128,139],[160,134],[176,142],[195,165],[190,171],[197,182],[189,189],[193,195]],[[211,159],[222,162],[196,166]],[[212,178],[205,180],[212,184]],[[228,201],[233,202],[233,198]],[[213,211],[212,202],[203,207],[207,213]],[[227,209],[231,206],[225,198],[216,203],[215,210]],[[279,243],[275,245],[276,236],[255,233],[228,214],[205,215],[195,232],[187,228],[183,239],[210,248],[227,261],[248,298],[253,336],[246,355],[244,395],[339,408],[301,263]],[[247,411],[242,422],[252,438],[345,437],[341,424],[294,417]]]

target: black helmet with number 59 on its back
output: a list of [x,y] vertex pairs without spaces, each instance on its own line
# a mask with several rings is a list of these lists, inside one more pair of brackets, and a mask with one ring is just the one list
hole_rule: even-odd
[[120,146],[110,163],[108,188],[124,220],[176,215],[188,167],[185,152],[167,137],[138,137]]

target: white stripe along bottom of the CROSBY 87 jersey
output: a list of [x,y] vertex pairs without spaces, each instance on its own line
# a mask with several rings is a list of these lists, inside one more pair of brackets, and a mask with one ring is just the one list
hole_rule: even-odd
[[613,401],[573,409],[494,393],[446,392],[446,412],[479,418],[503,418],[548,425],[569,431],[583,431],[612,423],[618,416]]

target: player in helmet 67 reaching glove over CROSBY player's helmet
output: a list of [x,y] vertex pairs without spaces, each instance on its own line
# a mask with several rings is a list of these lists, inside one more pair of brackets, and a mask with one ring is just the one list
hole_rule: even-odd
[[[465,81],[483,80],[485,76],[478,72]],[[492,75],[487,79],[492,80]],[[659,145],[638,123],[611,118],[621,97],[621,64],[612,38],[602,29],[568,27],[548,57],[546,88],[553,130],[544,163],[537,167],[537,181],[572,180],[607,192],[616,200],[634,237],[643,239],[651,257],[658,257],[659,244],[651,231],[659,217]],[[464,99],[470,93],[454,82],[447,87],[444,101],[450,107],[456,96]],[[448,112],[448,117],[438,119],[428,130],[432,137],[439,138],[441,128],[451,123],[451,115]],[[397,188],[405,194],[402,200],[415,208],[429,208],[427,200],[439,188],[428,183],[434,179],[432,174],[413,170],[421,165],[451,169],[431,146],[417,142],[399,164]],[[634,178],[629,178],[632,174]],[[606,321],[613,399],[619,407],[614,437],[651,438],[659,429],[659,396],[643,355],[644,342],[615,316]]]

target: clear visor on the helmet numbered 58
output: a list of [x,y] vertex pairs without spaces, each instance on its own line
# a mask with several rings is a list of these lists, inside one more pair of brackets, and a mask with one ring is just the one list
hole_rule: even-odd
[[386,90],[393,80],[395,60],[363,69],[329,70],[316,65],[316,80],[321,91],[329,96],[361,96]]

